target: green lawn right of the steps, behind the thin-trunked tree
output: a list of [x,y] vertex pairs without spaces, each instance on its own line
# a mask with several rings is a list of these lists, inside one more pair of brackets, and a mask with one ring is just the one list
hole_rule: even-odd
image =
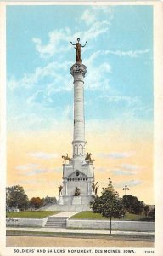
[[[71,219],[97,219],[97,220],[109,220],[109,218],[103,217],[99,213],[93,213],[91,211],[79,212],[73,215]],[[137,221],[151,221],[149,217],[144,217],[142,215],[136,215],[131,213],[126,213],[124,218],[112,218],[112,220],[137,220]]]

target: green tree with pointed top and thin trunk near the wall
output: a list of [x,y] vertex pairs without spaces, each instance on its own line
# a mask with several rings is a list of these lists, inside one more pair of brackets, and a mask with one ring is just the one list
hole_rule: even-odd
[[94,213],[100,213],[106,218],[110,218],[110,234],[111,234],[111,220],[112,218],[121,218],[125,213],[124,205],[115,192],[112,182],[109,178],[109,184],[107,188],[103,188],[101,196],[96,196],[91,202],[91,208]]

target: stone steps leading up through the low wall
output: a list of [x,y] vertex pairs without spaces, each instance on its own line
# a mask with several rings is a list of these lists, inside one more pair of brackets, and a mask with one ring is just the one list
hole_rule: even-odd
[[48,217],[46,228],[65,228],[68,217]]

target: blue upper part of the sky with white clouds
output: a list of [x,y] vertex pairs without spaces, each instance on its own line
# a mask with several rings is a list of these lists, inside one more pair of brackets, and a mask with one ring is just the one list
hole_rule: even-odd
[[81,38],[85,116],[152,124],[150,6],[8,6],[8,130],[53,129],[73,119],[70,67]]

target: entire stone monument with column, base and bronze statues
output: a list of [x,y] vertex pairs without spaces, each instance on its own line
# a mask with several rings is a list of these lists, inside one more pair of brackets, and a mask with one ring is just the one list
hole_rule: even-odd
[[[70,68],[74,78],[74,135],[72,141],[72,158],[62,155],[63,183],[59,186],[59,200],[50,210],[86,211],[93,195],[97,194],[98,183],[94,182],[94,167],[91,153],[85,151],[85,117],[84,117],[84,77],[87,67],[82,64],[82,45],[77,38],[76,63]],[[49,210],[49,208],[48,208]]]

